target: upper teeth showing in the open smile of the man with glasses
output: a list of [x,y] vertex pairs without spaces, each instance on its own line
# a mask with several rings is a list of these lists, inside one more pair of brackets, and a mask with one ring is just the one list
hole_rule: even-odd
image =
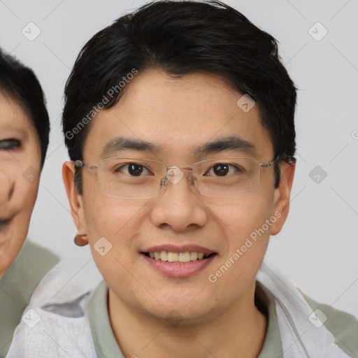
[[171,251],[155,251],[155,252],[141,252],[142,255],[149,257],[150,259],[165,262],[167,264],[187,264],[189,262],[196,262],[205,260],[214,255],[216,252],[212,252],[209,255],[203,252],[187,251],[187,252],[171,252]]

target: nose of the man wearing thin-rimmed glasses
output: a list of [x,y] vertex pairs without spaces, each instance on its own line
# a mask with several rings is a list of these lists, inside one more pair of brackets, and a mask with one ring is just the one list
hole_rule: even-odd
[[165,185],[153,200],[150,218],[157,227],[187,231],[205,226],[208,208],[194,185],[178,167],[168,170]]

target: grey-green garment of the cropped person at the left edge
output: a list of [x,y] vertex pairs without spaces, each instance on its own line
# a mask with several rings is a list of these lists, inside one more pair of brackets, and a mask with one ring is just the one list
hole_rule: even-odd
[[0,358],[6,356],[13,332],[41,278],[59,257],[28,239],[0,280]]

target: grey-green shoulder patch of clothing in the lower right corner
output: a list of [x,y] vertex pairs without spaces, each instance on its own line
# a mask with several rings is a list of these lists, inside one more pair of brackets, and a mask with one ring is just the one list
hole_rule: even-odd
[[320,318],[324,327],[333,334],[334,343],[349,357],[358,357],[357,317],[327,304],[317,302],[303,292],[301,294],[308,306]]

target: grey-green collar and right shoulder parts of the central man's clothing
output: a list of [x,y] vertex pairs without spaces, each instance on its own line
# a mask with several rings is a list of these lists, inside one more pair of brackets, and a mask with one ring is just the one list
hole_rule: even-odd
[[[280,358],[282,357],[282,342],[278,329],[278,320],[275,312],[273,296],[262,285],[257,285],[257,294],[266,303],[268,315],[268,327],[264,346],[258,358]],[[124,358],[120,347],[115,340],[107,310],[108,287],[103,281],[96,288],[90,299],[89,315],[90,326],[94,347],[97,357]],[[325,326],[334,335],[335,343],[349,357],[358,358],[358,321],[357,319],[331,306],[317,303],[307,296],[304,296],[312,310],[320,308],[327,317],[330,317]],[[141,352],[136,352],[141,357]]]

